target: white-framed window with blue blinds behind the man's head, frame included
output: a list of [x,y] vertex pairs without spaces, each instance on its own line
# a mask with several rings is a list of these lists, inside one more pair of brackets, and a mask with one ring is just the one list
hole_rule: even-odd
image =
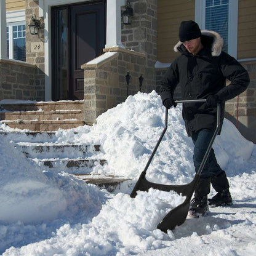
[[238,0],[196,0],[195,21],[202,30],[218,32],[224,39],[223,50],[236,58]]

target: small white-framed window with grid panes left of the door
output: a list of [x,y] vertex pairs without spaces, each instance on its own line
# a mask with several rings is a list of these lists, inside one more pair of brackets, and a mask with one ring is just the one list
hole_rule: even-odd
[[26,61],[26,27],[23,23],[7,24],[7,56]]

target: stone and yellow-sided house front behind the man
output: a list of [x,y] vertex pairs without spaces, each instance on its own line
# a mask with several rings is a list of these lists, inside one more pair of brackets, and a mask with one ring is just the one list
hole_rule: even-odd
[[[132,23],[124,25],[129,5]],[[0,7],[0,100],[83,100],[86,122],[95,122],[127,95],[158,91],[177,57],[180,22],[195,20],[218,31],[250,74],[246,92],[226,102],[226,117],[256,143],[254,0],[6,0]],[[38,34],[29,30],[34,15]]]

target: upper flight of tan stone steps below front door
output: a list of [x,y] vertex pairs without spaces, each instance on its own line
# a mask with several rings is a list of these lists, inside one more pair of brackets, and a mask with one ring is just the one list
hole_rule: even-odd
[[[1,104],[0,120],[7,126],[36,132],[84,126],[84,100]],[[88,124],[91,125],[91,124]]]

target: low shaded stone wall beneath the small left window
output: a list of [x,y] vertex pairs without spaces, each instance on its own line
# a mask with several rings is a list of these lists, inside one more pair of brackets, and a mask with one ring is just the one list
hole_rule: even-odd
[[[0,100],[35,100],[35,65],[15,60],[0,60]],[[40,98],[38,98],[40,100]]]

